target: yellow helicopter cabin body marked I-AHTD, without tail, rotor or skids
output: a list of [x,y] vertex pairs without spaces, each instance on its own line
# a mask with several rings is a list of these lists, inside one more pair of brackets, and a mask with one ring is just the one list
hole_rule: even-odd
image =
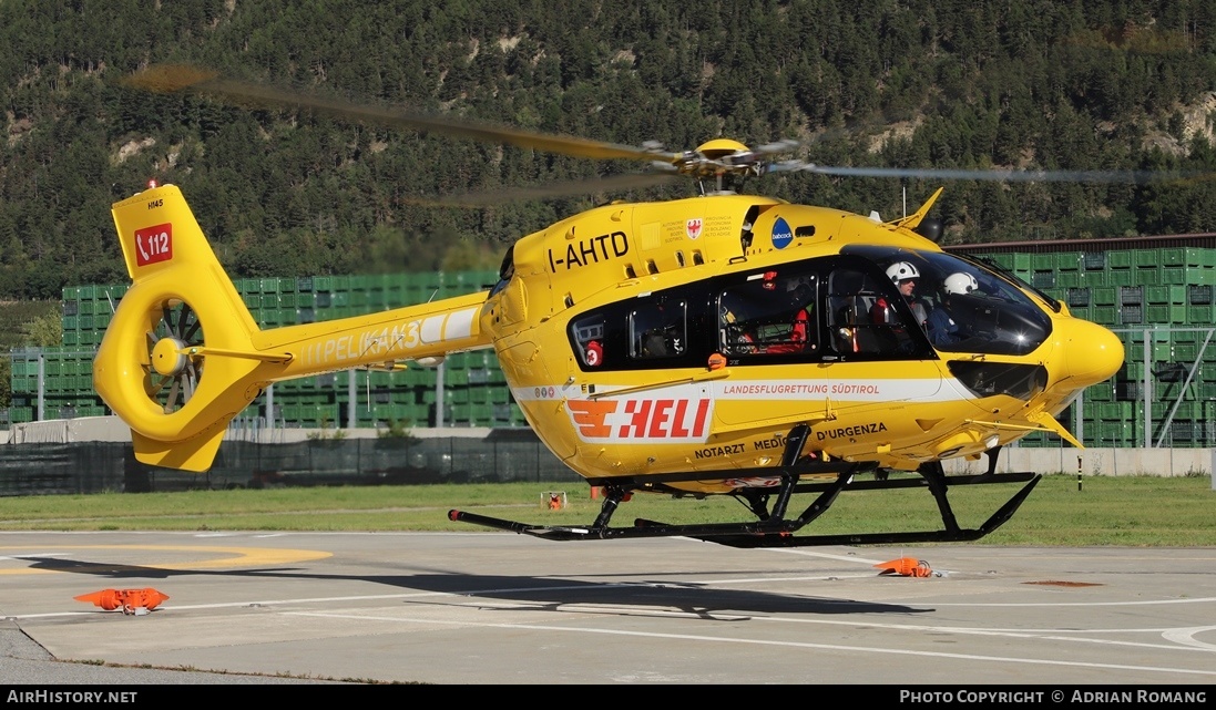
[[[934,348],[884,277],[901,260],[923,304],[953,270],[979,277],[989,322]],[[912,470],[1058,430],[1121,364],[1105,329],[906,227],[750,196],[601,207],[517,242],[502,276],[480,331],[533,428],[593,479],[766,485],[731,472],[773,466],[799,423],[811,457]]]

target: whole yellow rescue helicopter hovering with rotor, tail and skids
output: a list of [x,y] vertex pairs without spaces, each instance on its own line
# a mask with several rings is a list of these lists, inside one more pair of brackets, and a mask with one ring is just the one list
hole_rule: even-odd
[[[1108,329],[986,263],[945,252],[928,213],[895,221],[732,190],[772,171],[893,174],[776,160],[794,143],[711,140],[665,152],[361,108],[159,67],[161,91],[299,107],[360,120],[659,165],[700,193],[610,203],[519,238],[488,292],[358,317],[259,329],[181,191],[113,205],[133,286],[94,365],[106,404],[145,463],[207,470],[229,422],[276,382],[355,367],[428,366],[492,348],[547,447],[603,490],[587,525],[451,511],[452,520],[550,540],[683,535],[736,547],[968,541],[1014,514],[1040,480],[996,473],[1001,449],[1048,430],[1085,388],[1122,366]],[[934,175],[934,171],[916,171]],[[652,175],[653,178],[654,175]],[[1113,174],[951,171],[944,178],[1118,179]],[[928,236],[927,236],[928,235]],[[911,294],[911,295],[910,295]],[[980,460],[946,475],[942,461]],[[916,472],[916,477],[888,473]],[[861,474],[873,474],[865,475]],[[975,529],[959,485],[1021,484]],[[941,528],[798,535],[845,490],[928,488]],[[637,492],[733,496],[754,520],[612,525]],[[812,494],[798,512],[795,495]]]

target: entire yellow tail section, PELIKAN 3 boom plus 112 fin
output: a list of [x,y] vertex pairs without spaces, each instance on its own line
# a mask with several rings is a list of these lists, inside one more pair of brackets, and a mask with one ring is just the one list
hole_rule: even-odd
[[227,423],[275,382],[489,345],[485,293],[263,331],[178,187],[112,212],[133,283],[97,350],[94,385],[143,463],[207,470]]

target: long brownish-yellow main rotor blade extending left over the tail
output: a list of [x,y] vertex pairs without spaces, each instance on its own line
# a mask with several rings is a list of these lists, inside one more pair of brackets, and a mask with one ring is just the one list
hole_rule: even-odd
[[677,153],[659,150],[539,134],[455,117],[424,115],[404,108],[359,106],[338,98],[325,98],[238,79],[226,79],[216,72],[187,64],[151,67],[128,77],[123,83],[135,89],[161,94],[188,91],[260,106],[302,108],[320,114],[366,120],[392,128],[407,128],[494,143],[506,142],[523,148],[536,148],[579,158],[671,162],[677,157]]

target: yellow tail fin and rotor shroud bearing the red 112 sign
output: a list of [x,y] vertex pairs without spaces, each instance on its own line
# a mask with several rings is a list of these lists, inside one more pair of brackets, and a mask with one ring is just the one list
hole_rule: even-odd
[[227,421],[252,400],[220,383],[246,382],[259,361],[212,359],[204,379],[187,350],[201,344],[202,320],[208,346],[235,351],[252,351],[258,326],[176,187],[139,193],[112,214],[131,287],[94,360],[94,384],[131,427],[136,458],[206,470]]

